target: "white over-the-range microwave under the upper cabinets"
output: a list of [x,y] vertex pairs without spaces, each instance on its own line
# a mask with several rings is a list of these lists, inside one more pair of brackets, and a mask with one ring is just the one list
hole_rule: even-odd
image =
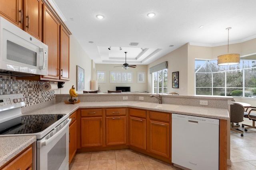
[[47,75],[48,46],[0,17],[0,74]]

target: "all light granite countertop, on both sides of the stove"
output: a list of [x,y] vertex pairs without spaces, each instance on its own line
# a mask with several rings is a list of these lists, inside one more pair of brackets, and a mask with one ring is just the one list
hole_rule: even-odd
[[[80,102],[78,104],[65,104],[64,102],[62,102],[53,104],[48,107],[36,109],[34,111],[28,111],[22,114],[71,114],[78,108],[103,107],[130,107],[224,120],[227,120],[229,118],[228,109],[184,106],[175,104],[157,104],[137,101]],[[34,141],[36,141],[36,136],[0,137],[0,166],[8,162],[8,160],[12,159]]]

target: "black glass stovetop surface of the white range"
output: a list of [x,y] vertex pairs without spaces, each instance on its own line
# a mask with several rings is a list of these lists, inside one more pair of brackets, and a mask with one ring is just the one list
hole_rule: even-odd
[[38,133],[63,116],[63,114],[23,115],[0,123],[0,135]]

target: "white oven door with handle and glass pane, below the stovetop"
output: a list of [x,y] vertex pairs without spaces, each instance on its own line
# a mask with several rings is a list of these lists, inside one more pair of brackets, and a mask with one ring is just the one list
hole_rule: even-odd
[[[71,119],[65,125],[62,122],[48,135],[37,141],[37,170],[68,170],[70,121]],[[54,133],[54,131],[57,132]]]

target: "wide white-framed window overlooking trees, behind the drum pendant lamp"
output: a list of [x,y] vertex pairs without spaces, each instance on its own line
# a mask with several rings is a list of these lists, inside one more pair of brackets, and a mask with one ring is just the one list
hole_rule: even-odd
[[218,66],[217,60],[195,60],[196,95],[256,98],[256,59]]

